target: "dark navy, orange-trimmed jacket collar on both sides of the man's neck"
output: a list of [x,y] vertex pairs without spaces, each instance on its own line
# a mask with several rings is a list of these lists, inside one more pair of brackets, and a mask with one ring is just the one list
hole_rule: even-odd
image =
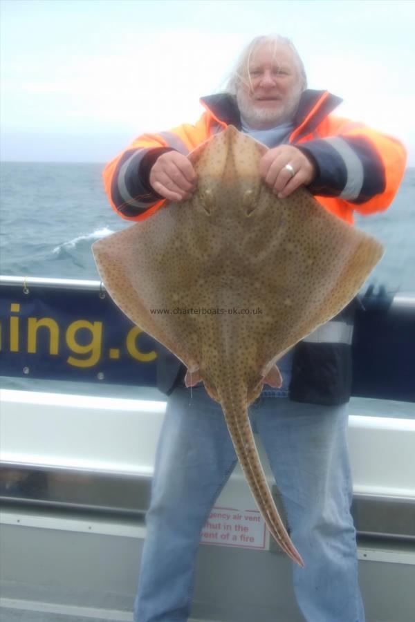
[[[329,91],[315,91],[311,88],[304,91],[294,117],[295,139],[312,132],[342,101],[341,97]],[[201,97],[201,104],[220,122],[241,129],[241,115],[232,95],[218,93]]]

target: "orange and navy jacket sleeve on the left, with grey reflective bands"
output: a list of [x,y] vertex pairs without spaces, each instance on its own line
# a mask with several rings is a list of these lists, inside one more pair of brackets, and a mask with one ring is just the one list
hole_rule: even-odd
[[153,214],[165,199],[149,186],[149,169],[160,153],[172,149],[187,156],[208,138],[208,120],[203,114],[196,125],[184,124],[167,132],[142,134],[111,160],[102,176],[109,202],[127,220],[142,220]]

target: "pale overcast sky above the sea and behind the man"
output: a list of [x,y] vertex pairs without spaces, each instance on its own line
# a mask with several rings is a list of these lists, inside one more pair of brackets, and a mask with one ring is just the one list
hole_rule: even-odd
[[1,159],[106,162],[194,122],[241,46],[290,37],[338,114],[403,140],[415,166],[412,0],[2,0]]

